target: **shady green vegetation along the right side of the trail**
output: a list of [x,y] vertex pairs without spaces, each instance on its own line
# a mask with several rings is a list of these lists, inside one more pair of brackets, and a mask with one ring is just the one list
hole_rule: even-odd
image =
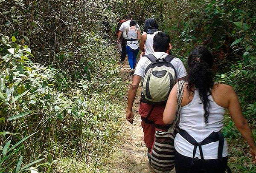
[[[256,3],[253,0],[137,0],[119,1],[143,23],[154,17],[172,38],[173,54],[186,62],[197,45],[215,55],[216,81],[233,86],[256,134]],[[135,9],[134,9],[135,8]],[[236,173],[256,172],[247,144],[230,118],[224,135],[230,145],[230,166]],[[239,159],[238,159],[239,158]]]

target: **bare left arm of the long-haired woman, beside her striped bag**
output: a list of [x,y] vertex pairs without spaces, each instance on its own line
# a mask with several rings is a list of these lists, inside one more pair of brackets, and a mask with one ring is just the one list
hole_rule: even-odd
[[172,91],[169,94],[166,107],[163,111],[163,123],[168,125],[172,124],[175,120],[177,109],[177,83],[172,88]]

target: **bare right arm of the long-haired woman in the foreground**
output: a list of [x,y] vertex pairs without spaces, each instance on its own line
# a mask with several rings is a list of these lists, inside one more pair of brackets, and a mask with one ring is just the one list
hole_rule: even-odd
[[251,148],[251,154],[253,155],[254,162],[256,161],[256,145],[253,139],[252,131],[248,125],[247,120],[244,118],[239,99],[232,87],[228,86],[227,92],[230,95],[228,110],[230,111],[230,116],[236,125],[236,128],[240,131],[244,139],[248,142]]

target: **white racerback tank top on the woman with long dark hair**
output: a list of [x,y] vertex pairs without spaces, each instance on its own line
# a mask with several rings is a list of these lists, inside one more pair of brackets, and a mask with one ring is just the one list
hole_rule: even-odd
[[[208,124],[204,122],[204,105],[200,99],[198,90],[195,90],[192,101],[180,109],[180,129],[186,130],[197,142],[203,141],[212,132],[218,132],[223,128],[223,119],[225,109],[212,99],[209,95],[209,117]],[[204,159],[218,159],[218,141],[202,145]],[[183,156],[193,157],[194,145],[190,144],[180,134],[177,134],[174,140],[175,150]],[[228,155],[227,141],[224,141],[223,157]],[[200,157],[199,148],[197,148],[195,158]]]

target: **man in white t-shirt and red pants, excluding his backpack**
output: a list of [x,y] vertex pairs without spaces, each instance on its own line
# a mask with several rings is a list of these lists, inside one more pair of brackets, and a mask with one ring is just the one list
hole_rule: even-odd
[[[155,35],[154,37],[154,53],[153,55],[157,59],[164,59],[166,58],[169,54],[166,52],[169,51],[170,48],[170,37],[169,35],[160,32]],[[186,77],[186,69],[182,63],[182,61],[178,58],[172,59],[170,62],[173,67],[175,68],[176,71],[176,79],[182,80],[185,79]],[[144,78],[145,76],[145,71],[148,65],[151,64],[151,61],[148,60],[147,57],[142,57],[139,62],[137,63],[135,72],[134,72],[134,78],[133,82],[131,84],[129,94],[128,94],[128,106],[127,106],[127,113],[126,113],[126,119],[128,122],[133,122],[134,114],[132,111],[132,106],[134,102],[134,98],[136,96],[137,88],[139,86],[140,80]],[[148,120],[154,122],[154,124],[148,124],[144,120],[141,122],[141,125],[143,127],[143,132],[144,132],[144,142],[148,147],[148,151],[151,150],[153,143],[154,143],[154,134],[156,130],[163,130],[166,129],[164,127],[163,123],[163,111],[165,108],[165,103],[161,104],[149,104],[147,102],[144,102],[143,99],[140,102],[140,109],[139,113],[141,118],[148,118]],[[150,117],[148,115],[150,114]],[[159,126],[158,128],[155,125],[159,125],[162,128],[160,129]]]

